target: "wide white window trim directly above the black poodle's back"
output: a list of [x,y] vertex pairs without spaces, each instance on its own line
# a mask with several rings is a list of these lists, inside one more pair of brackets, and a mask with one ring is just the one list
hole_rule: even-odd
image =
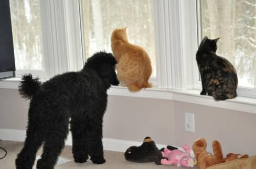
[[40,1],[46,77],[82,68],[79,2]]

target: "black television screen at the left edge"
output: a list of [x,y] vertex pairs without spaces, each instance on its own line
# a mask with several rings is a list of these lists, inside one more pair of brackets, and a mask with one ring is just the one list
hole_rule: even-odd
[[12,22],[9,0],[0,0],[0,73],[7,71],[15,71]]

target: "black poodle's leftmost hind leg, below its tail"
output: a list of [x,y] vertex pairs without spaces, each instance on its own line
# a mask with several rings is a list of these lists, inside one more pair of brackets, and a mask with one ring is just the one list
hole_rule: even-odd
[[44,137],[39,124],[29,117],[25,144],[15,160],[17,169],[31,169],[33,167],[36,159],[36,152],[43,141]]

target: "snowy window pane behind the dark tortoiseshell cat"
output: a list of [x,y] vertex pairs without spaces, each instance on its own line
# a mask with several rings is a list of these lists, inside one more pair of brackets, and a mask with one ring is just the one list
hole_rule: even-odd
[[255,1],[204,0],[199,3],[201,37],[220,37],[217,54],[236,68],[238,86],[256,88]]

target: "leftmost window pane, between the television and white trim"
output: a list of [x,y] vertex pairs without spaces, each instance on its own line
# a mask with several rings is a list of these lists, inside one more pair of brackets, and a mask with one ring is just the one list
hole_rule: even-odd
[[15,64],[18,71],[45,70],[39,0],[10,0]]

